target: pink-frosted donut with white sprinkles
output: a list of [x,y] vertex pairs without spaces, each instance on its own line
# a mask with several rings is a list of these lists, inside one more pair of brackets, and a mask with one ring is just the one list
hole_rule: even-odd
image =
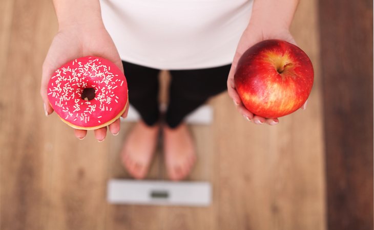
[[114,63],[95,56],[59,67],[48,82],[47,95],[63,122],[84,130],[113,123],[129,103],[126,77]]

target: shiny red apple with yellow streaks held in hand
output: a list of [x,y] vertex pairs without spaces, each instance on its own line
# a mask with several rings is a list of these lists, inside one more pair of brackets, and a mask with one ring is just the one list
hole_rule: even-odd
[[276,39],[245,51],[234,75],[245,108],[264,118],[279,118],[299,109],[309,97],[313,79],[313,65],[304,51]]

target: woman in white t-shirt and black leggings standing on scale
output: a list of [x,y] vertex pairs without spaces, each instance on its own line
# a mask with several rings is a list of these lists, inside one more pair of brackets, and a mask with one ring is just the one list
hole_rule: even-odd
[[[297,4],[298,0],[54,0],[59,30],[43,64],[40,88],[46,115],[53,112],[46,89],[56,68],[76,57],[107,58],[124,70],[129,101],[141,116],[123,144],[123,165],[135,178],[144,178],[161,129],[169,177],[183,179],[196,161],[183,118],[226,87],[248,121],[279,122],[255,116],[243,106],[234,72],[241,54],[259,41],[295,43],[289,26]],[[172,76],[165,119],[157,104],[160,70]],[[119,119],[109,125],[113,135],[119,126]],[[106,132],[107,127],[94,130],[96,139],[103,141]],[[74,133],[83,139],[87,131]]]

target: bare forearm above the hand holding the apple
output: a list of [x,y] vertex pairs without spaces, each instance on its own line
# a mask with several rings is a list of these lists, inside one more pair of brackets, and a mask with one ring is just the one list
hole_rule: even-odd
[[251,24],[267,29],[288,29],[299,0],[254,0]]

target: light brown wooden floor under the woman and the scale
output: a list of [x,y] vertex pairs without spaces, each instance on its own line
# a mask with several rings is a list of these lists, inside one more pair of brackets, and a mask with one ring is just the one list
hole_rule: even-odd
[[[51,2],[1,1],[0,229],[326,229],[316,0],[300,2],[292,25],[315,66],[307,110],[256,126],[221,94],[209,101],[214,123],[191,126],[198,163],[189,180],[212,183],[209,208],[107,203],[107,180],[128,177],[118,153],[133,124],[98,143],[44,116],[41,64],[57,30]],[[166,178],[157,153],[149,178]]]

